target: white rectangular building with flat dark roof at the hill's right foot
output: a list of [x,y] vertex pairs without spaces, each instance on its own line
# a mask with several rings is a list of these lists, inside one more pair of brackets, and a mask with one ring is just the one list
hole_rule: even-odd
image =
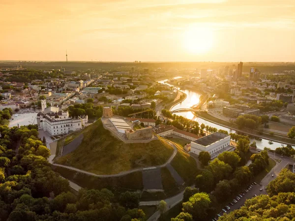
[[230,146],[231,136],[224,133],[211,133],[191,142],[191,153],[199,155],[200,152],[206,151],[210,155],[216,152],[222,152]]

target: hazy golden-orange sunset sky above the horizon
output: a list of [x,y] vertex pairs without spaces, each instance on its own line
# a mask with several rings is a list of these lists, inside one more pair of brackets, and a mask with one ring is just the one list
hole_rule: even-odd
[[0,0],[0,60],[295,62],[295,0]]

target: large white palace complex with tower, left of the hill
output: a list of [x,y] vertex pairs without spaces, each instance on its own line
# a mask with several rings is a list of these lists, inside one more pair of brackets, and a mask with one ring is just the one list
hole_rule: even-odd
[[68,111],[59,110],[58,106],[46,107],[46,100],[41,100],[41,109],[37,114],[37,125],[52,136],[82,129],[88,123],[87,115],[70,118]]

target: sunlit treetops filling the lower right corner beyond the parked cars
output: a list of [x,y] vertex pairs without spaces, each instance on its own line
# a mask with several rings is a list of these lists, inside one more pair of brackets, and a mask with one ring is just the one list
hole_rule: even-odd
[[224,214],[219,221],[293,221],[295,174],[283,169],[267,186],[267,193],[246,200],[240,209]]

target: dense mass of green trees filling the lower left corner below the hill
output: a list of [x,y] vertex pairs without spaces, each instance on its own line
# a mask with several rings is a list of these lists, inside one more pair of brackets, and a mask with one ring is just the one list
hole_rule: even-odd
[[108,189],[70,192],[55,173],[49,150],[37,138],[36,126],[0,126],[0,220],[9,221],[143,221],[139,195]]

